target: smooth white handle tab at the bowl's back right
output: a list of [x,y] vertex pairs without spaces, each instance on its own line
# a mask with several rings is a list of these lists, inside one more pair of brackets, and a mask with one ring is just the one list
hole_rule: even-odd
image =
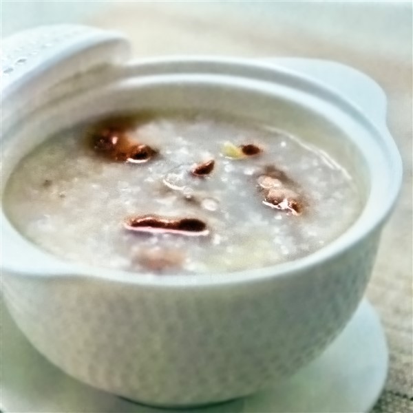
[[369,76],[353,67],[321,59],[266,59],[304,73],[351,100],[373,123],[385,126],[387,99],[383,89]]

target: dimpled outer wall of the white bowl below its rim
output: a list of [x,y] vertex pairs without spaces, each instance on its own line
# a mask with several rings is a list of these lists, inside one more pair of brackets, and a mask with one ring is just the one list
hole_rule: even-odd
[[277,282],[151,290],[10,276],[4,293],[34,346],[74,377],[146,403],[208,403],[251,394],[324,350],[363,295],[375,241]]

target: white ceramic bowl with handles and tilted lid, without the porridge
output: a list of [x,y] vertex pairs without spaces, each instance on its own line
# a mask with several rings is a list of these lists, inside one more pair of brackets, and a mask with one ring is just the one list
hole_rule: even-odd
[[[48,30],[30,36],[47,37]],[[17,162],[54,131],[114,110],[195,108],[305,136],[351,171],[365,206],[346,233],[294,262],[162,277],[62,261],[25,240],[1,210],[10,313],[65,372],[144,403],[224,401],[284,379],[343,329],[368,283],[401,184],[383,92],[363,74],[332,63],[299,61],[291,70],[282,63],[182,57],[122,65],[125,41],[76,30],[80,37],[63,36],[56,50],[28,59],[20,74],[8,73],[2,192]],[[28,39],[19,36],[9,40],[10,50],[10,43]],[[304,74],[312,71],[326,82]],[[341,92],[328,86],[337,79]]]

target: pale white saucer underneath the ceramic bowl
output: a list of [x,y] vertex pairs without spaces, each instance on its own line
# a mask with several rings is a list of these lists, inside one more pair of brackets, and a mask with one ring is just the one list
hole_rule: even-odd
[[[165,412],[129,403],[68,377],[34,350],[3,304],[1,327],[0,403],[4,413]],[[379,317],[365,299],[324,354],[288,381],[246,399],[190,411],[368,412],[383,389],[387,370],[388,349]]]

